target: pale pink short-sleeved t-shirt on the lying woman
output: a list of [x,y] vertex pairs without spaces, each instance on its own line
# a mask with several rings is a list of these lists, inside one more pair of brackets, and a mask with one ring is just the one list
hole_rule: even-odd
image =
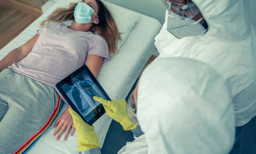
[[87,55],[110,60],[106,41],[90,31],[74,31],[65,24],[48,21],[37,33],[40,36],[32,51],[10,68],[42,83],[55,86],[81,67]]

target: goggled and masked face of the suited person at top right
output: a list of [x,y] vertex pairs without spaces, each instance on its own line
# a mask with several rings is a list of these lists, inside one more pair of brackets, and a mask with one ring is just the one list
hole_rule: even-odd
[[205,34],[205,29],[199,20],[194,20],[196,15],[200,13],[198,7],[193,3],[179,4],[169,0],[162,0],[168,10],[167,30],[175,37],[181,39],[183,37]]

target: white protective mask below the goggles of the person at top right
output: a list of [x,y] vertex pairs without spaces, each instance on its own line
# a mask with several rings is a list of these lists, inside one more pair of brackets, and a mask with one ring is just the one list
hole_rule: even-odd
[[183,19],[182,16],[174,12],[168,12],[167,30],[179,39],[205,34],[207,29],[199,23],[202,19],[198,21],[190,18]]

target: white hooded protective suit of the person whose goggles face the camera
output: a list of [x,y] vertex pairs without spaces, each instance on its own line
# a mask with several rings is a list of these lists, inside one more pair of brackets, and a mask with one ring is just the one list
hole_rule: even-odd
[[256,30],[250,23],[249,1],[192,0],[208,24],[206,34],[177,39],[165,23],[155,38],[162,57],[188,57],[215,68],[228,84],[236,126],[256,115]]

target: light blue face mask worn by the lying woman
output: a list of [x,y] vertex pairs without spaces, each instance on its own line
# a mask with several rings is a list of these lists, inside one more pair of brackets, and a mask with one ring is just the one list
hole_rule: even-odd
[[[93,8],[86,3],[78,3],[74,10],[75,21],[79,24],[93,23],[91,20],[92,14],[95,14]],[[95,15],[97,16],[97,14]]]

